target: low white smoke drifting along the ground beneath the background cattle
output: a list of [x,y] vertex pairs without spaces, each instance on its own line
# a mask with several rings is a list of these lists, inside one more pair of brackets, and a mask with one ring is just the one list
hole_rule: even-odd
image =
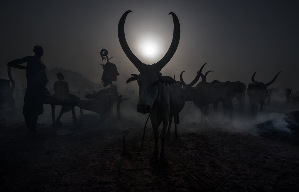
[[[187,109],[190,109],[187,111]],[[186,114],[187,112],[187,114]],[[186,114],[184,117],[183,115]],[[261,129],[275,129],[277,131],[283,131],[286,133],[292,133],[288,128],[289,123],[292,122],[283,112],[258,112],[255,117],[250,114],[240,112],[238,110],[233,111],[233,117],[230,120],[229,113],[219,110],[213,113],[213,110],[209,111],[209,115],[206,117],[206,123],[201,123],[201,112],[199,108],[193,104],[190,106],[190,102],[186,102],[184,109],[180,113],[183,119],[181,120],[181,127],[184,127],[185,131],[199,131],[199,130],[218,130],[240,133],[252,133],[257,134],[258,125],[263,123]],[[288,122],[287,122],[288,121]],[[268,123],[267,123],[268,122]]]

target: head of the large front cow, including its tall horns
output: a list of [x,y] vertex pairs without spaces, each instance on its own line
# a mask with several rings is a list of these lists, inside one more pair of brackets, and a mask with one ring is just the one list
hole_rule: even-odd
[[126,11],[123,16],[120,18],[118,23],[118,39],[120,42],[120,46],[125,52],[126,56],[132,62],[132,64],[138,69],[140,72],[138,75],[132,74],[132,77],[127,80],[127,83],[130,81],[137,80],[139,86],[139,101],[137,104],[137,111],[140,113],[149,113],[152,111],[154,104],[158,101],[158,84],[161,82],[166,85],[175,84],[176,81],[169,77],[163,76],[160,71],[161,69],[170,61],[176,49],[179,45],[180,40],[180,23],[179,19],[173,12],[170,12],[173,16],[173,39],[168,49],[167,53],[164,57],[155,64],[146,65],[142,63],[130,50],[124,32],[124,25],[126,16],[132,11]]

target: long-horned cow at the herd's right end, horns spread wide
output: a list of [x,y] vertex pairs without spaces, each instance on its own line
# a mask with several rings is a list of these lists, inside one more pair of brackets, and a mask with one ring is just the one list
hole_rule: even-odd
[[266,98],[268,97],[267,87],[269,85],[271,85],[272,83],[274,83],[274,81],[277,78],[277,76],[279,75],[279,73],[277,73],[277,75],[272,79],[272,81],[270,81],[269,83],[265,83],[265,84],[254,80],[254,76],[255,76],[256,72],[252,75],[252,77],[251,77],[252,83],[250,83],[247,88],[247,95],[248,95],[248,99],[250,102],[250,109],[251,109],[252,115],[256,114],[257,108],[258,108],[258,106],[257,106],[258,103],[260,103],[260,111],[263,111],[263,105],[265,103]]

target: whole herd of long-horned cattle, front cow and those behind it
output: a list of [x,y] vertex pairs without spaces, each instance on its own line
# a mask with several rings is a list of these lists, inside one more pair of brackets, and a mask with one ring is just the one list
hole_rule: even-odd
[[[138,75],[132,74],[132,77],[127,80],[127,83],[130,81],[137,81],[139,86],[137,111],[143,114],[150,113],[150,120],[155,137],[155,148],[151,161],[158,160],[158,139],[160,138],[162,145],[160,161],[163,162],[165,138],[170,134],[170,126],[173,117],[175,123],[175,135],[177,136],[176,126],[179,123],[179,112],[183,109],[185,102],[193,101],[194,105],[199,107],[202,111],[202,118],[206,116],[209,104],[213,104],[214,110],[217,110],[219,102],[222,103],[225,110],[230,111],[231,115],[233,110],[233,98],[237,98],[240,108],[244,109],[246,85],[239,81],[220,82],[214,80],[210,83],[206,82],[207,74],[211,72],[208,71],[205,75],[202,74],[202,70],[206,64],[202,65],[197,72],[196,77],[190,84],[186,84],[183,80],[184,71],[181,72],[180,81],[162,75],[160,72],[161,69],[170,61],[179,45],[180,24],[178,17],[173,12],[169,13],[173,17],[173,39],[167,53],[155,64],[147,65],[142,63],[132,53],[125,38],[124,24],[126,16],[130,12],[132,11],[126,11],[120,18],[118,23],[118,38],[124,53],[140,73]],[[255,73],[253,74],[251,78],[252,82],[247,87],[252,115],[257,113],[258,104],[260,104],[260,111],[263,110],[263,105],[269,94],[267,87],[275,81],[279,73],[277,73],[269,83],[255,81]],[[199,78],[201,78],[201,81],[193,87]],[[158,127],[162,122],[163,128],[161,135],[159,136]]]

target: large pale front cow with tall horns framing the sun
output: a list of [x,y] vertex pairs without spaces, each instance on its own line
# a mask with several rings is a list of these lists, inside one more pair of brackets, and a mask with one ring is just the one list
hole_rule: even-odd
[[[118,23],[118,39],[120,45],[125,52],[126,56],[132,64],[140,72],[138,75],[132,74],[132,77],[127,80],[137,80],[139,86],[139,101],[137,104],[137,111],[143,114],[151,113],[150,120],[152,122],[152,129],[155,137],[155,148],[151,157],[151,161],[158,160],[158,140],[159,140],[159,125],[163,122],[163,128],[160,135],[161,139],[161,154],[160,161],[163,163],[164,158],[164,142],[166,138],[166,129],[168,123],[171,122],[172,117],[175,118],[175,124],[178,122],[178,114],[184,107],[185,101],[183,99],[183,89],[181,85],[176,84],[172,77],[163,76],[160,71],[170,61],[179,45],[180,39],[180,23],[179,19],[173,12],[173,39],[164,57],[155,64],[147,65],[142,63],[130,50],[124,32],[124,24],[126,16],[132,11],[126,11],[120,18]],[[167,86],[167,84],[171,86]],[[177,131],[175,130],[175,133]]]

